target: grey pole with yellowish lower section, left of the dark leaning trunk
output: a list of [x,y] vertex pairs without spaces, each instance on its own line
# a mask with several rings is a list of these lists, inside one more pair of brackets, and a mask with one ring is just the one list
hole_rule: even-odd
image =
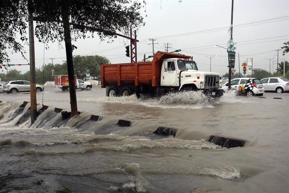
[[34,49],[34,27],[32,1],[28,1],[28,30],[29,30],[29,57],[30,57],[30,114],[31,125],[36,120],[37,102],[36,102],[36,75],[35,75],[35,49]]

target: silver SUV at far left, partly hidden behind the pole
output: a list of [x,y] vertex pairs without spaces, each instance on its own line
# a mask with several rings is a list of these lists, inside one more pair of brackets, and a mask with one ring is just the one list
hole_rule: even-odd
[[[43,91],[42,85],[36,84],[36,92]],[[17,92],[30,92],[29,81],[8,81],[3,84],[3,92],[6,93],[17,93]]]

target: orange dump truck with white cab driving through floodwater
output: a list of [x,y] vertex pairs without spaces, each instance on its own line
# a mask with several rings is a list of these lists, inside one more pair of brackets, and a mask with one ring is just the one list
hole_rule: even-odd
[[183,90],[222,96],[220,79],[218,73],[198,71],[191,56],[169,52],[157,52],[151,62],[101,65],[101,87],[107,96],[156,96]]

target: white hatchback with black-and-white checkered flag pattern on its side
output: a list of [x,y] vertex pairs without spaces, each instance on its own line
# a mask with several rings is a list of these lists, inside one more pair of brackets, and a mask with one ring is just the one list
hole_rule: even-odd
[[[231,80],[231,89],[232,90],[238,90],[239,86],[246,85],[250,83],[252,80],[252,87],[251,89],[246,89],[245,94],[247,96],[254,96],[254,95],[260,95],[262,96],[264,94],[264,87],[261,83],[260,79],[258,78],[235,78]],[[228,82],[226,84],[222,85],[222,89],[224,91],[228,91]]]

